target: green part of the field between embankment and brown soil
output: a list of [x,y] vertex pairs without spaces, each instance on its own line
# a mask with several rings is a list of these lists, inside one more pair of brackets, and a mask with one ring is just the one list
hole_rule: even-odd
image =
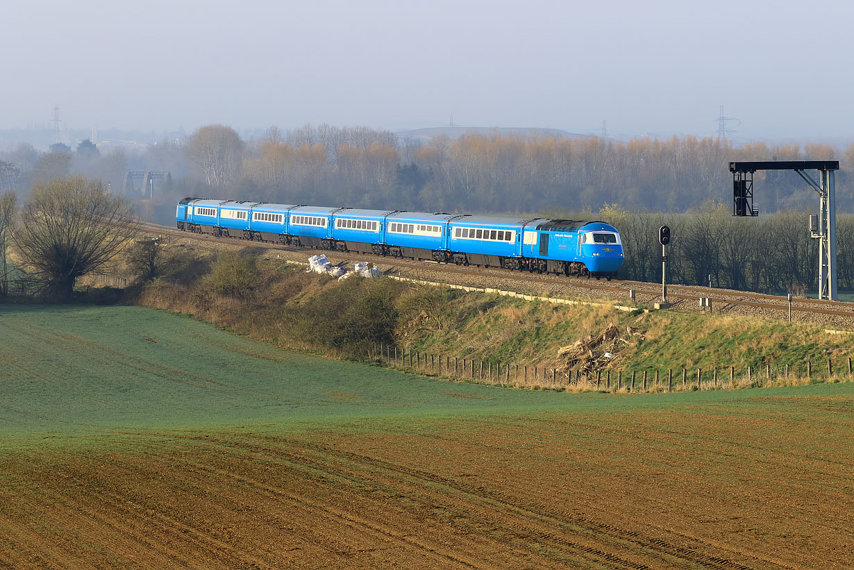
[[[760,396],[758,391],[611,396],[442,382],[303,356],[141,307],[4,307],[0,347],[0,433],[7,442],[103,430],[279,429],[387,416],[415,420],[749,405]],[[851,384],[819,385],[809,392],[852,389]]]

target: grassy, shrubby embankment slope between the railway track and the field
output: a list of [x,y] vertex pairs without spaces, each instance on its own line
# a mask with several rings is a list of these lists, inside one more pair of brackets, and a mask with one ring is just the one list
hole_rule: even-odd
[[[693,389],[698,368],[704,371],[704,385],[712,382],[714,370],[718,385],[729,385],[730,367],[735,367],[736,385],[807,384],[828,379],[828,358],[834,364],[834,380],[849,379],[847,359],[854,356],[847,335],[832,336],[822,332],[821,326],[780,320],[673,312],[626,314],[389,279],[337,282],[251,256],[221,256],[213,261],[210,273],[200,271],[197,276],[184,282],[149,284],[138,301],[314,354],[370,359],[376,357],[378,345],[390,345],[401,354],[414,351],[442,356],[446,362],[449,358],[452,366],[456,359],[459,376],[464,375],[465,359],[470,371],[465,373],[467,379],[471,379],[471,361],[477,363],[477,377],[481,361],[487,367],[498,363],[506,367],[510,362],[514,385],[564,387],[570,373],[577,380],[581,370],[590,372],[592,381],[601,371],[600,387],[604,387],[610,370],[613,384],[617,374],[623,373],[625,389],[633,372],[637,386],[644,371],[652,385],[656,371],[663,384],[672,370],[674,389],[682,389],[682,368],[686,368],[684,388]],[[613,338],[590,347],[589,352],[579,350],[590,358],[573,362],[560,356],[562,348],[587,344],[609,328]],[[605,351],[611,359],[604,358]],[[527,382],[521,377],[524,367],[529,367]],[[538,369],[536,380],[534,368]],[[553,368],[559,371],[554,383]],[[421,367],[418,372],[437,373],[435,367]],[[595,386],[584,381],[580,387]]]

